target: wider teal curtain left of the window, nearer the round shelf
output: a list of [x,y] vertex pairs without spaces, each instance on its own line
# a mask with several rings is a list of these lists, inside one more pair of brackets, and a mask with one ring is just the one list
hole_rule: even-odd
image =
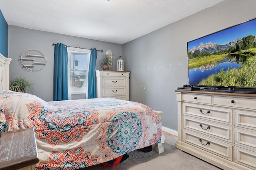
[[57,43],[54,47],[54,95],[53,100],[68,100],[68,52],[67,46]]

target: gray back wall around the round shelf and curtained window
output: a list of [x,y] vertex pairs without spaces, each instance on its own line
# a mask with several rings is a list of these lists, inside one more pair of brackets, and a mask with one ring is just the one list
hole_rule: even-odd
[[[58,33],[50,33],[46,31],[38,31],[34,29],[26,29],[8,26],[8,42],[9,57],[12,58],[10,64],[10,78],[25,77],[34,83],[34,95],[45,101],[53,100],[53,67],[54,67],[54,46],[52,43],[64,43],[65,45],[81,48],[96,48],[99,50],[110,49],[113,53],[113,70],[116,70],[116,59],[122,55],[122,45],[85,39]],[[20,55],[27,49],[38,49],[47,57],[46,66],[37,72],[28,72],[19,64]],[[98,61],[103,53],[98,51],[96,69]],[[73,96],[74,97],[74,96]]]

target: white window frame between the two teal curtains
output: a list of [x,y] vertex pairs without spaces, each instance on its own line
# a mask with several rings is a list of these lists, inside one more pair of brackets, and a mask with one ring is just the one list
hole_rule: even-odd
[[[88,71],[90,67],[90,54],[91,50],[81,49],[76,47],[67,47],[68,51],[68,100],[72,100],[72,94],[86,94],[86,99],[88,99]],[[87,71],[86,71],[86,88],[71,88],[71,55],[72,53],[87,53]],[[79,70],[77,70],[79,71]]]

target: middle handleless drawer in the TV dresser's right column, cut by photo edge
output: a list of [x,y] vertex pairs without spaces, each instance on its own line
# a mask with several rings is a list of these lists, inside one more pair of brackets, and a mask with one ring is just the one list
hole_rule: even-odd
[[[256,132],[234,128],[235,145],[256,149]],[[256,160],[255,160],[256,161]]]

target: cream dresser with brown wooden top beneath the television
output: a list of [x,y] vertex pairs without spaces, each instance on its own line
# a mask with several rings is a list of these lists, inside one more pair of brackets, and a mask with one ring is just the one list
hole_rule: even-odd
[[256,94],[175,92],[176,148],[224,170],[256,170]]

